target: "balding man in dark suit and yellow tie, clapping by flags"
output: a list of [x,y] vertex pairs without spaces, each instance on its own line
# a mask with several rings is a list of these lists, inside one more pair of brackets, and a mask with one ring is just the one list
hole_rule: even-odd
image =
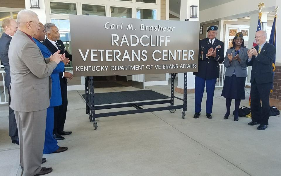
[[[269,94],[273,82],[272,62],[276,54],[276,48],[266,42],[267,33],[257,31],[256,47],[248,50],[249,59],[247,65],[252,66],[251,71],[251,113],[252,121],[249,125],[258,126],[258,130],[265,130],[269,119]],[[262,103],[262,108],[261,108]]]

